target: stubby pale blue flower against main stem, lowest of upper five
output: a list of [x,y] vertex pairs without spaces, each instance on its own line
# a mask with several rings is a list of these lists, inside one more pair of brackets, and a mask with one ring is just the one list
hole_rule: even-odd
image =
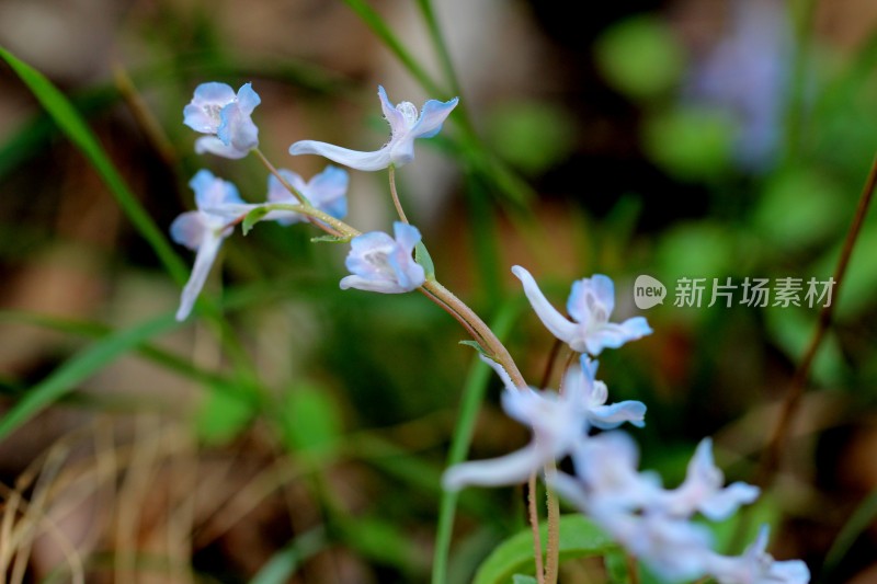
[[351,275],[341,279],[341,289],[399,294],[423,285],[426,274],[411,255],[420,241],[420,231],[401,221],[392,224],[392,229],[396,239],[383,231],[372,231],[351,240],[344,264]]

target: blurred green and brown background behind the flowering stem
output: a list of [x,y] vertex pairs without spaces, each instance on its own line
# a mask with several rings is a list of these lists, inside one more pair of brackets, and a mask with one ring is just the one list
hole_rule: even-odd
[[[193,207],[200,168],[265,196],[253,157],[194,153],[181,122],[197,83],[252,82],[262,150],[305,178],[323,161],[288,157],[293,141],[387,139],[377,84],[417,105],[459,95],[397,173],[438,279],[508,329],[536,383],[553,339],[509,268],[557,307],[573,279],[610,275],[615,319],[654,329],[601,356],[611,399],[649,406],[633,433],[642,468],[675,484],[710,435],[728,480],[754,480],[819,310],[741,305],[739,288],[707,307],[709,286],[833,274],[877,151],[877,5],[582,10],[2,0],[0,46],[70,100],[162,233]],[[469,373],[465,331],[418,294],[340,290],[346,247],[276,225],[230,238],[201,310],[174,324],[181,284],[118,190],[5,65],[0,87],[0,389],[8,411],[45,396],[0,426],[10,582],[428,581],[464,387],[486,390],[471,458],[527,439],[498,380]],[[351,225],[388,229],[384,173],[351,173],[350,209]],[[875,221],[758,509],[774,554],[805,559],[813,582],[877,581]],[[662,305],[636,308],[640,274],[667,285]],[[680,278],[706,278],[702,306],[674,306]],[[520,489],[464,492],[448,582],[469,581],[522,509]],[[600,574],[569,562],[561,581]]]

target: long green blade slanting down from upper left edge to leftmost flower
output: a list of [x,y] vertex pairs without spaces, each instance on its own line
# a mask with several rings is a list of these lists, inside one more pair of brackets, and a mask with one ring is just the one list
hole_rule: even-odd
[[115,196],[118,206],[122,207],[122,210],[140,236],[152,248],[159,261],[179,284],[183,284],[189,277],[189,270],[185,264],[183,264],[180,256],[168,243],[168,239],[162,231],[156,227],[151,217],[137,201],[137,197],[113,165],[110,157],[79,112],[48,79],[30,65],[19,60],[2,47],[0,47],[0,58],[12,67],[12,70],[24,81],[55,123],[58,124],[61,131],[91,162],[91,165]]

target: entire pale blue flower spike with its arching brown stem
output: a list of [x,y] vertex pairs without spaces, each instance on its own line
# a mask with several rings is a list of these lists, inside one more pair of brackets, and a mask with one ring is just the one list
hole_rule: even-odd
[[[179,320],[191,312],[219,248],[235,225],[244,218],[281,225],[310,221],[327,231],[329,239],[350,242],[345,261],[350,275],[340,280],[342,289],[400,294],[424,287],[429,297],[455,313],[469,332],[475,331],[474,336],[491,337],[489,329],[477,329],[478,319],[468,307],[464,310],[456,297],[444,294],[425,264],[415,260],[415,248],[422,248],[421,233],[407,222],[392,183],[392,169],[414,159],[414,140],[435,136],[458,100],[429,100],[418,111],[410,102],[394,105],[383,87],[378,88],[378,98],[390,126],[390,139],[380,149],[361,152],[301,140],[289,147],[289,153],[319,154],[363,171],[391,169],[390,190],[401,219],[394,224],[392,236],[383,231],[361,233],[341,221],[348,209],[349,176],[339,168],[329,165],[305,181],[289,170],[275,170],[259,152],[272,172],[266,202],[259,204],[246,203],[235,185],[202,170],[190,183],[196,210],[182,214],[171,226],[174,241],[196,251],[176,312]],[[207,135],[196,141],[195,150],[237,159],[258,149],[259,129],[251,115],[260,101],[249,83],[237,92],[224,83],[200,85],[183,111],[184,123]],[[425,248],[421,251],[425,252]],[[675,489],[664,489],[654,473],[638,470],[636,444],[617,428],[625,423],[642,427],[646,405],[633,400],[608,403],[606,383],[596,379],[594,357],[652,331],[642,317],[620,323],[610,321],[615,307],[612,279],[596,274],[573,283],[567,317],[548,301],[529,272],[514,266],[512,273],[521,280],[539,320],[573,354],[580,355],[563,373],[560,389],[551,391],[527,386],[511,357],[501,356],[504,347],[498,351],[492,346],[481,353],[503,381],[502,408],[528,426],[533,438],[506,456],[451,467],[443,477],[444,488],[455,491],[467,485],[516,484],[543,469],[554,469],[557,461],[569,457],[574,472],[546,472],[548,486],[588,514],[658,575],[669,580],[711,576],[720,584],[809,582],[802,562],[777,562],[765,551],[766,528],[742,556],[721,556],[713,550],[710,531],[695,520],[697,516],[725,519],[758,499],[759,489],[742,482],[726,486],[708,438],[697,446],[685,480]]]

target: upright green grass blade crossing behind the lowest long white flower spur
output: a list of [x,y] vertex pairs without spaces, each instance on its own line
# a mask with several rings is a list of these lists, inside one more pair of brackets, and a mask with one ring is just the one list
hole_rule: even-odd
[[[519,301],[506,301],[502,305],[493,319],[491,329],[500,340],[505,339],[512,324],[521,311]],[[487,392],[490,380],[490,368],[481,359],[474,359],[472,366],[466,378],[463,398],[459,406],[457,425],[454,428],[451,450],[447,455],[447,466],[463,462],[469,451],[469,444],[475,432],[475,422],[478,411]],[[435,552],[432,563],[432,584],[445,584],[447,581],[447,560],[451,552],[451,536],[454,530],[454,516],[457,511],[459,493],[444,491],[438,506],[438,524],[435,529]]]

